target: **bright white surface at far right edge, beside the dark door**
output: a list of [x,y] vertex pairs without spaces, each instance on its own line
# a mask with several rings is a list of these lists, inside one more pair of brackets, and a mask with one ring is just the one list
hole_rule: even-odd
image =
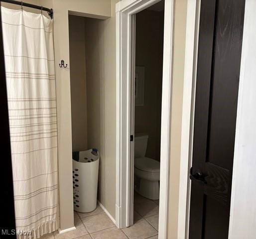
[[229,239],[256,238],[256,1],[246,0]]

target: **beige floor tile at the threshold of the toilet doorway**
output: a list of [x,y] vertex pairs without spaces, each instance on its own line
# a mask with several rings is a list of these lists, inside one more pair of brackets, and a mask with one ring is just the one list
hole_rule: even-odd
[[133,226],[124,228],[122,231],[129,239],[146,239],[158,234],[158,232],[145,219],[140,219]]

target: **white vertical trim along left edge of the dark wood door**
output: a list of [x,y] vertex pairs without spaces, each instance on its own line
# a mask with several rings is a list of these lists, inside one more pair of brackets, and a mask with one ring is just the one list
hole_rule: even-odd
[[[201,0],[189,0],[187,5],[186,43],[184,64],[184,87],[182,102],[182,131],[180,153],[179,203],[186,204],[186,212],[178,214],[178,238],[189,238],[190,190],[189,179],[192,167],[194,108],[196,97],[197,52]],[[186,186],[186,188],[185,188]]]

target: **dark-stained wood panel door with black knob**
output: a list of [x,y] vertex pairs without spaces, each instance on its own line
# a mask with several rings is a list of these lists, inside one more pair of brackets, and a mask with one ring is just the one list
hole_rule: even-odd
[[245,0],[201,0],[190,239],[228,239]]

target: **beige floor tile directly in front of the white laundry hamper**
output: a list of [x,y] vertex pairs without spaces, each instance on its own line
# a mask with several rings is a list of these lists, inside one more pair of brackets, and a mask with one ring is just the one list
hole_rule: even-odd
[[89,233],[115,227],[115,224],[105,213],[82,218],[82,221]]

